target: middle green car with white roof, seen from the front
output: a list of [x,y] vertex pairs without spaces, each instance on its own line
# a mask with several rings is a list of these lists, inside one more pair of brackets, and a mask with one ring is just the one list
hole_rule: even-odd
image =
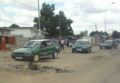
[[74,52],[88,52],[92,51],[92,45],[87,39],[76,40],[75,44],[72,47],[72,53]]

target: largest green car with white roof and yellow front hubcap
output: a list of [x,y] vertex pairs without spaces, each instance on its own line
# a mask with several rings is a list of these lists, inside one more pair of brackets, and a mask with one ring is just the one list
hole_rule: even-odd
[[52,56],[56,59],[59,53],[59,46],[50,39],[31,40],[22,48],[14,50],[11,57],[15,60],[39,61],[39,58]]

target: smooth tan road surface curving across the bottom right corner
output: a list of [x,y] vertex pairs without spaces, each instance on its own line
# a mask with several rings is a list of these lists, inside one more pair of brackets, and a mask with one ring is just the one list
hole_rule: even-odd
[[96,48],[93,50],[104,55],[97,56],[93,63],[73,73],[56,76],[46,83],[120,83],[120,48],[101,52]]

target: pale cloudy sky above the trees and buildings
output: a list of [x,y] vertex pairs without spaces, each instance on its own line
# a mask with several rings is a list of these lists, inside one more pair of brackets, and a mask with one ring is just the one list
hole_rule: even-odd
[[[88,33],[96,31],[95,25],[98,31],[105,31],[105,19],[108,33],[114,30],[120,32],[120,0],[39,0],[40,9],[44,2],[55,4],[55,14],[62,10],[67,18],[73,20],[74,34],[85,30]],[[0,0],[0,27],[9,27],[13,23],[20,27],[32,27],[34,17],[38,17],[37,8],[38,0]]]

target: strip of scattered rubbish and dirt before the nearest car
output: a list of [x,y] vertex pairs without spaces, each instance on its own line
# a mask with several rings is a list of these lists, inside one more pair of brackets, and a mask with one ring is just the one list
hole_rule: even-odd
[[26,75],[33,75],[33,74],[44,74],[44,73],[72,73],[73,70],[66,70],[66,69],[62,69],[62,68],[56,68],[53,66],[41,66],[41,65],[37,65],[35,67],[35,65],[29,66],[29,65],[8,65],[6,68],[0,68],[0,70],[4,70],[4,71],[9,71],[9,72],[19,72],[19,73],[23,73]]

